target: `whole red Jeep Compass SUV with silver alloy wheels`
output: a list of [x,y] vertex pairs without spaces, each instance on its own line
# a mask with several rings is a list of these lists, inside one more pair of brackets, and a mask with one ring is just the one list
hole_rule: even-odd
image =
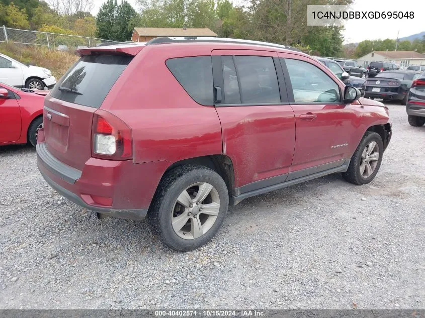
[[46,97],[37,144],[46,181],[100,214],[143,219],[186,251],[229,204],[342,172],[378,172],[388,109],[283,45],[209,38],[78,50]]

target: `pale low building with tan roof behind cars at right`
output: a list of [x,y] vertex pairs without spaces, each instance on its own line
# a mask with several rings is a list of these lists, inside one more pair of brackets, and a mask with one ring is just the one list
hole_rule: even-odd
[[425,54],[416,51],[374,51],[358,59],[358,63],[365,66],[372,61],[394,62],[406,68],[409,65],[425,65]]

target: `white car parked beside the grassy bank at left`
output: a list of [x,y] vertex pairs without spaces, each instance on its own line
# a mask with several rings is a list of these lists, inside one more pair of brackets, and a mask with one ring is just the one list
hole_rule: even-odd
[[25,65],[0,53],[0,82],[17,88],[50,89],[56,78],[47,68]]

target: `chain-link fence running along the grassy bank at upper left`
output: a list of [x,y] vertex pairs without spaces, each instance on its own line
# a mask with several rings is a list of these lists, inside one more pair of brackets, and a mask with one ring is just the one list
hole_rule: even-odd
[[95,47],[101,43],[119,43],[98,38],[82,37],[39,31],[0,28],[0,42],[14,42],[31,46],[45,47],[49,50],[74,50],[78,46]]

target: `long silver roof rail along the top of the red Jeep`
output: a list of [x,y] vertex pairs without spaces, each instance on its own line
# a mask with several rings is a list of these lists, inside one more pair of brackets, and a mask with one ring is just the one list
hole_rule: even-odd
[[269,42],[260,42],[260,41],[251,41],[251,40],[241,40],[241,39],[232,39],[232,38],[212,38],[212,37],[158,37],[149,40],[146,45],[152,44],[166,44],[166,43],[187,43],[187,42],[220,42],[220,43],[238,43],[238,44],[252,44],[260,46],[270,46],[275,48],[287,49],[295,52],[301,52],[300,49],[297,49],[293,46],[281,45]]

